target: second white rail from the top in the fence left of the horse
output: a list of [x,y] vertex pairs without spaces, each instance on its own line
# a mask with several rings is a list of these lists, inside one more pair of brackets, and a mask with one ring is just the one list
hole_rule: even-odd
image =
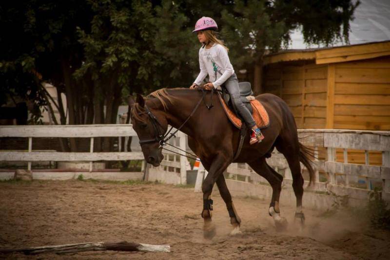
[[0,161],[124,161],[143,160],[142,152],[0,152]]

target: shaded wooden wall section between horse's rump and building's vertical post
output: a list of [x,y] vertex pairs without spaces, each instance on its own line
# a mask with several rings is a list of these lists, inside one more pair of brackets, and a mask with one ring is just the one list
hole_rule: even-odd
[[271,64],[264,72],[264,93],[286,101],[300,129],[326,127],[327,65],[312,62]]

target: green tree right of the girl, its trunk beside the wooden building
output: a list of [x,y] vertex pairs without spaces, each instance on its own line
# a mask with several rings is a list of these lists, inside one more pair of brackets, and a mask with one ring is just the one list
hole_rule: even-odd
[[254,92],[261,93],[262,58],[287,46],[301,28],[308,44],[348,42],[349,22],[359,2],[351,0],[236,0],[222,11],[222,33],[238,67],[254,66]]

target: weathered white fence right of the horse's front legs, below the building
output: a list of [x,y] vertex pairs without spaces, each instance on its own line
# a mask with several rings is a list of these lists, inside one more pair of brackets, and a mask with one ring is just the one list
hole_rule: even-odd
[[[339,196],[348,195],[357,200],[367,200],[371,184],[379,185],[382,198],[390,202],[390,131],[360,131],[360,130],[298,130],[300,142],[315,150],[316,182],[307,190],[318,193],[331,193]],[[318,149],[326,149],[325,160],[318,160]],[[343,162],[336,162],[336,149],[343,149]],[[348,162],[348,149],[364,150],[365,164]],[[370,165],[369,152],[382,153],[382,165]],[[292,176],[284,156],[273,152],[267,162],[276,171],[284,175],[284,186],[291,187]],[[320,172],[323,181],[320,182]],[[256,174],[246,164],[232,164],[228,168],[229,177],[251,184],[264,184],[267,181]],[[324,176],[325,175],[325,176]],[[341,177],[341,178],[338,178]],[[339,182],[342,179],[343,182]],[[356,187],[363,181],[364,186]],[[306,186],[308,181],[305,181]]]

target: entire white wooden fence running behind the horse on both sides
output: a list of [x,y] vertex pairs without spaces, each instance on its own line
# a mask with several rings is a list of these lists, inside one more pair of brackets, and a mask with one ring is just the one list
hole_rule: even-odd
[[[382,197],[390,201],[390,131],[360,131],[360,130],[298,130],[300,141],[314,149],[326,149],[326,159],[313,162],[316,169],[316,183],[310,187],[312,191],[331,192],[336,195],[349,195],[355,199],[367,199],[371,189],[371,181],[381,182]],[[92,171],[93,161],[143,160],[141,152],[94,152],[95,137],[123,137],[136,136],[130,125],[77,125],[77,126],[1,126],[0,137],[28,138],[26,151],[0,150],[0,161],[24,161],[31,169],[31,162],[36,161],[89,161]],[[53,152],[34,151],[32,138],[39,137],[87,137],[90,138],[90,152]],[[186,135],[178,132],[170,143],[180,149],[186,149]],[[172,147],[168,149],[176,150]],[[1,149],[1,148],[0,148]],[[344,150],[344,161],[336,162],[336,149]],[[347,149],[365,150],[365,164],[348,162]],[[382,153],[382,165],[371,165],[369,152]],[[159,167],[150,167],[149,180],[162,180],[166,183],[186,184],[186,170],[188,161],[184,156],[164,150],[164,160]],[[274,151],[273,156],[267,159],[276,171],[284,175],[284,185],[291,186],[292,177],[284,157]],[[257,175],[246,164],[232,164],[229,166],[228,176],[239,183],[264,184],[265,179]],[[319,182],[320,172],[325,181]],[[325,174],[325,177],[323,176]],[[343,183],[338,182],[342,177]],[[364,180],[367,186],[355,187],[354,183]]]

